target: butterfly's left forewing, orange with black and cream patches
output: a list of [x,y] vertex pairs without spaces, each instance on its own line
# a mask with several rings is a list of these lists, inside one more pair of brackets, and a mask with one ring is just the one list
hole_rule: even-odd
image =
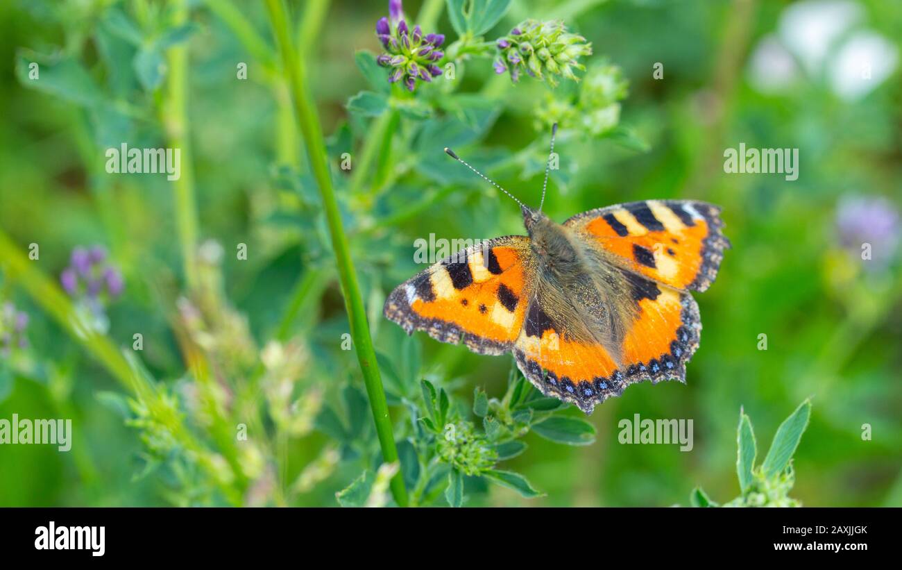
[[509,235],[477,244],[401,283],[384,314],[409,334],[502,354],[520,334],[532,268],[529,238]]

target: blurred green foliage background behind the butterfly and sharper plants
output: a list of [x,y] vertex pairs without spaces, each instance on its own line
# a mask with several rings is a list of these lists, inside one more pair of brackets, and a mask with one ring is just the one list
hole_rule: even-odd
[[[218,3],[189,2],[190,25],[179,29],[172,4],[179,3],[0,5],[0,228],[20,253],[39,244],[33,266],[55,282],[75,246],[106,248],[125,283],[124,294],[107,303],[106,336],[130,347],[133,334],[143,334],[141,360],[188,401],[189,423],[204,420],[190,406],[192,356],[186,326],[178,324],[183,295],[199,306],[208,301],[214,317],[225,314],[219,307],[235,315],[216,330],[207,323],[220,355],[239,359],[246,350],[253,361],[273,334],[294,339],[304,357],[293,381],[335,402],[345,382],[361,385],[360,372],[354,352],[341,347],[344,305],[288,93],[273,78],[277,63],[266,60],[275,51],[265,11],[256,2],[230,3],[241,17],[229,23]],[[380,161],[389,171],[357,180],[362,188],[352,195],[353,170],[338,168],[340,156],[350,152],[358,161],[377,120],[346,109],[350,97],[371,88],[354,52],[378,52],[373,29],[387,3],[310,4],[324,10],[304,2],[290,7],[311,17],[306,25],[299,19],[299,49],[333,176],[341,179],[337,192],[376,348],[400,362],[411,357],[399,351],[413,343],[422,364],[411,373],[464,403],[476,386],[501,397],[509,356],[470,354],[422,333],[404,341],[382,317],[382,301],[423,268],[413,261],[419,238],[523,233],[519,208],[447,160],[442,148],[454,143],[460,156],[536,205],[548,144],[538,115],[548,97],[566,97],[574,87],[551,91],[530,78],[512,86],[494,76],[491,60],[465,61],[454,101],[472,106],[472,115],[455,115],[470,117],[469,130],[460,135],[437,118],[425,127],[395,119],[396,140]],[[418,14],[419,6],[407,0],[405,12]],[[750,415],[763,454],[779,422],[811,396],[793,496],[806,506],[902,505],[902,4],[514,0],[485,35],[498,37],[528,17],[562,17],[592,41],[586,63],[622,69],[630,87],[620,121],[645,143],[563,130],[548,215],[564,221],[630,200],[703,199],[723,207],[733,247],[712,288],[695,294],[704,331],[686,385],[645,382],[605,402],[590,418],[597,429],[591,446],[527,437],[529,449],[508,464],[544,497],[527,501],[492,488],[474,492],[467,504],[667,506],[686,504],[696,485],[725,501],[738,490],[740,409]],[[453,34],[444,10],[437,30]],[[262,41],[256,50],[254,39]],[[183,68],[173,67],[174,50],[187,54]],[[31,61],[41,63],[36,81],[28,77]],[[238,62],[247,63],[246,80],[236,78]],[[658,62],[662,78],[653,75]],[[170,91],[173,70],[185,81],[184,113]],[[438,116],[443,112],[453,115],[440,109]],[[181,133],[190,152],[182,153],[179,183],[106,174],[107,147],[172,146]],[[798,179],[724,173],[724,150],[741,142],[797,148]],[[206,301],[184,292],[177,197],[185,185],[196,196],[197,242],[206,242],[196,263],[208,286],[200,290],[215,298]],[[411,204],[416,209],[407,212]],[[861,259],[863,243],[871,244],[870,260]],[[246,244],[246,260],[237,259],[238,244]],[[28,347],[0,356],[0,418],[73,418],[75,440],[69,453],[0,446],[0,505],[221,503],[190,464],[161,468],[148,459],[147,432],[123,419],[126,389],[48,317],[41,291],[0,273],[0,302],[30,317]],[[762,334],[767,350],[759,349]],[[238,391],[224,400],[232,405],[245,396],[254,397]],[[392,407],[399,421],[406,413]],[[619,444],[617,422],[636,413],[693,419],[693,450]],[[368,415],[357,419],[372,423]],[[862,438],[865,424],[870,439]],[[336,505],[335,492],[359,474],[359,464],[346,464],[344,455],[337,464],[324,455],[333,444],[323,430],[292,433],[303,437],[267,444],[281,457],[280,473],[255,472],[259,484],[249,486],[242,504]],[[280,484],[273,480],[294,480],[317,462],[323,473],[308,471],[310,483],[295,495],[272,490]]]

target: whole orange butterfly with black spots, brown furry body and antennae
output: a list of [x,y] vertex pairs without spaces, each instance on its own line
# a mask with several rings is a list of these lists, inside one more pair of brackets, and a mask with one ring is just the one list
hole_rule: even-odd
[[731,246],[719,208],[643,200],[558,224],[541,211],[547,186],[548,168],[538,210],[517,200],[527,235],[475,244],[421,271],[391,292],[385,317],[409,335],[512,353],[539,391],[586,414],[635,382],[685,383],[702,329],[690,291],[708,289]]

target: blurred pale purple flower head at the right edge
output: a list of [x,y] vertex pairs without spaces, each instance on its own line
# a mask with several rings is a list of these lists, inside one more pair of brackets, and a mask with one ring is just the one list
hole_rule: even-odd
[[899,244],[899,214],[883,197],[844,196],[836,208],[836,227],[842,245],[856,254],[862,244],[870,244],[871,259],[885,267]]

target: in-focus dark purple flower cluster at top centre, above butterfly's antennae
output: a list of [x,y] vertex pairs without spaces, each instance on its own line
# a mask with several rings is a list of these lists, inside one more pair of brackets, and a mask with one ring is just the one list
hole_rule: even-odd
[[376,37],[385,52],[376,58],[383,68],[391,68],[389,83],[401,81],[410,91],[417,88],[417,80],[429,82],[442,74],[435,62],[445,57],[438,48],[444,43],[441,33],[425,36],[419,26],[410,30],[404,20],[400,0],[389,2],[389,17],[376,22]]

